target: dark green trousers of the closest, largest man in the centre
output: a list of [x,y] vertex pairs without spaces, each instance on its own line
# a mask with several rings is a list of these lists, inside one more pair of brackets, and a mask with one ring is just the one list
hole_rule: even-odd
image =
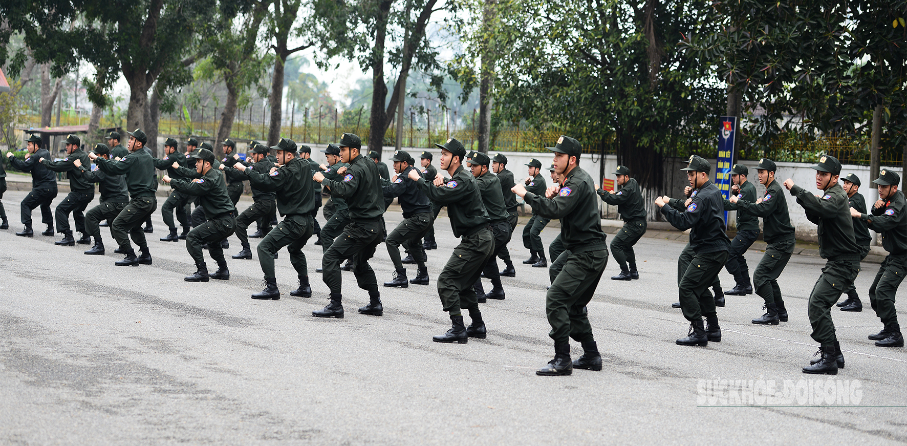
[[572,253],[563,251],[555,261],[563,268],[551,282],[545,296],[545,313],[551,324],[554,344],[591,341],[592,325],[586,305],[599,286],[601,274],[608,266],[608,249]]

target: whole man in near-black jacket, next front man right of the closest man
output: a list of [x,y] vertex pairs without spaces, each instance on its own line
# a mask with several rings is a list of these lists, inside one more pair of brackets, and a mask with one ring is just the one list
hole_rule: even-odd
[[[685,203],[686,210],[681,212],[665,206],[670,201],[668,197],[659,197],[655,204],[674,228],[682,231],[691,229],[689,247],[696,253],[678,284],[680,308],[690,322],[690,331],[687,337],[678,339],[677,344],[705,346],[710,339],[721,339],[715,300],[707,288],[725,266],[731,242],[725,233],[721,190],[708,179],[711,164],[693,155],[689,157],[688,166],[681,170],[687,171],[690,188],[697,191]],[[707,319],[708,334],[702,324],[703,316]]]

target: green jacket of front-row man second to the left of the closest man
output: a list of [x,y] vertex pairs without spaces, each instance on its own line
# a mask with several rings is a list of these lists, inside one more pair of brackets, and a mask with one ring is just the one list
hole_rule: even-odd
[[381,177],[371,158],[360,154],[350,160],[342,180],[326,178],[321,184],[331,190],[331,197],[346,199],[349,218],[353,221],[380,218],[385,213]]

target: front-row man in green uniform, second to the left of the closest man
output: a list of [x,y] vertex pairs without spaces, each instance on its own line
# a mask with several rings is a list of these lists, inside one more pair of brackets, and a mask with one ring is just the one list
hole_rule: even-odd
[[343,317],[343,305],[340,276],[340,262],[353,258],[353,272],[359,288],[368,291],[368,305],[359,308],[363,315],[383,315],[381,295],[375,271],[368,265],[368,259],[375,255],[375,247],[385,236],[384,193],[381,190],[381,177],[373,160],[363,157],[359,150],[362,141],[353,133],[344,133],[340,139],[340,160],[349,164],[343,179],[327,179],[318,171],[313,177],[317,182],[330,189],[332,197],[346,199],[350,222],[343,234],[325,252],[322,257],[322,278],[331,290],[331,302],[322,310],[313,311],[316,317]]

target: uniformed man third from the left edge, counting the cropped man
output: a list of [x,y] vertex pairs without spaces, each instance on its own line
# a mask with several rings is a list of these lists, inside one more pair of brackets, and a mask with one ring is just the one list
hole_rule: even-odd
[[[77,170],[78,168],[73,165],[75,160],[80,160],[82,164],[91,164],[88,154],[85,153],[85,150],[82,150],[81,144],[82,141],[79,140],[79,137],[73,134],[67,135],[66,158],[58,161],[39,158],[38,162],[43,163],[48,170],[53,170],[54,172]],[[87,231],[85,231],[85,215],[83,212],[88,207],[88,203],[91,203],[94,199],[94,184],[79,175],[70,175],[69,190],[69,195],[56,208],[57,232],[63,234],[63,239],[54,242],[54,245],[61,247],[72,247],[75,245],[73,230],[69,228],[70,213],[73,214],[73,220],[75,220],[75,230],[82,233],[79,244],[88,245],[92,240],[88,237]]]

